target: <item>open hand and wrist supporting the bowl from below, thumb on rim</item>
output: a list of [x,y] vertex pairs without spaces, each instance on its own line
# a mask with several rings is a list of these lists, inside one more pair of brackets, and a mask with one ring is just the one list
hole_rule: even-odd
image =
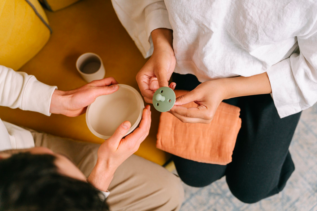
[[87,181],[99,190],[106,191],[116,169],[139,149],[149,134],[151,126],[150,105],[143,110],[142,120],[137,129],[123,137],[131,127],[129,121],[123,122],[115,133],[103,142],[98,149],[97,163]]

